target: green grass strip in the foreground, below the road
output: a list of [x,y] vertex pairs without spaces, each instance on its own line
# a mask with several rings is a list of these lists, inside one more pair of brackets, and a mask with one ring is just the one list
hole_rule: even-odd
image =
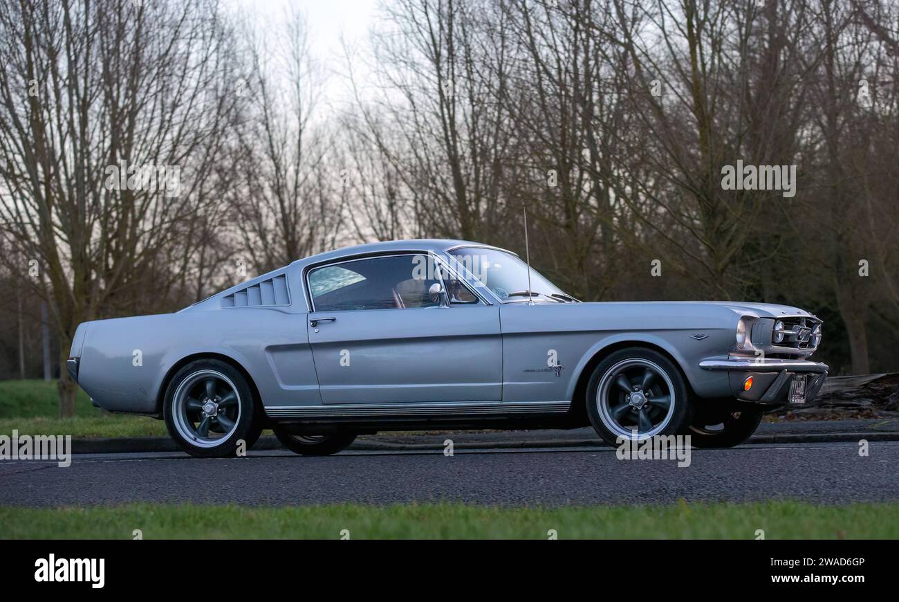
[[92,508],[0,507],[0,538],[130,539],[558,539],[899,538],[899,505],[752,504],[494,508],[404,506],[239,506],[135,504]]

